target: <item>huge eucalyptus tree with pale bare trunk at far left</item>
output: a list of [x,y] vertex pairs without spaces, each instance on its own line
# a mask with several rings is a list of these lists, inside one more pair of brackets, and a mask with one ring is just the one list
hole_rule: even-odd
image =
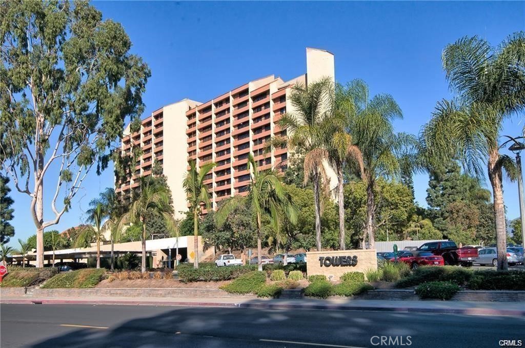
[[44,229],[59,223],[93,167],[108,166],[125,119],[142,114],[151,74],[129,53],[122,25],[88,2],[3,1],[0,37],[0,165],[29,198],[43,267]]

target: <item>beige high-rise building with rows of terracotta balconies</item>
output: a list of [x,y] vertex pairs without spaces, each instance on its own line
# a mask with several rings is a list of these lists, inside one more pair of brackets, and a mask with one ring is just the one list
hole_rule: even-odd
[[[177,218],[187,211],[182,183],[194,159],[200,167],[217,163],[205,183],[213,193],[213,208],[228,197],[246,195],[250,173],[248,153],[253,153],[261,169],[287,167],[290,151],[285,148],[267,151],[266,142],[274,136],[286,136],[278,126],[285,112],[293,112],[289,96],[296,84],[308,85],[323,77],[334,80],[334,56],[322,49],[306,49],[306,74],[284,81],[274,75],[250,81],[242,86],[200,103],[184,99],[164,106],[142,120],[140,131],[124,130],[122,151],[140,146],[141,158],[134,172],[116,183],[116,191],[129,193],[139,186],[139,177],[151,175],[154,161],[162,166],[173,194]],[[333,180],[332,180],[333,181]]]

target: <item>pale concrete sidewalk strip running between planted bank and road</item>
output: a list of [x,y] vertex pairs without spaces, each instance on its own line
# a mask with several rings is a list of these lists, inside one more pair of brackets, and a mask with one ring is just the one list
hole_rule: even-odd
[[19,304],[121,304],[237,307],[254,309],[314,309],[343,311],[384,311],[417,313],[452,313],[470,315],[525,316],[524,302],[469,302],[469,301],[387,301],[355,299],[247,299],[247,298],[53,298],[2,296],[0,303]]

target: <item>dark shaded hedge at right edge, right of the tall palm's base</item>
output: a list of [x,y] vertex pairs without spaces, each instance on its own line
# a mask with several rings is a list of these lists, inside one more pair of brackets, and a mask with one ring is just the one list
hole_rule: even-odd
[[525,290],[525,272],[475,271],[467,282],[471,290]]

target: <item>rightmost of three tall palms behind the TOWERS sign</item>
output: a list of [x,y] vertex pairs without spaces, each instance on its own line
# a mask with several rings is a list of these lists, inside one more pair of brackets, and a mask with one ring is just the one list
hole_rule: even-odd
[[[354,146],[361,151],[362,162],[353,165],[356,173],[366,184],[366,236],[369,248],[375,244],[374,190],[380,177],[398,176],[401,163],[413,162],[417,146],[416,138],[404,133],[396,133],[392,122],[402,119],[401,108],[391,95],[380,94],[370,98],[369,88],[364,81],[355,79],[338,91],[339,98],[346,104],[353,104],[355,111],[346,112],[348,131]],[[349,140],[348,144],[351,144]],[[344,142],[342,142],[345,144]],[[342,147],[344,149],[344,147]],[[354,150],[356,152],[356,150]],[[352,163],[350,163],[352,167]],[[365,236],[365,237],[366,237]]]

